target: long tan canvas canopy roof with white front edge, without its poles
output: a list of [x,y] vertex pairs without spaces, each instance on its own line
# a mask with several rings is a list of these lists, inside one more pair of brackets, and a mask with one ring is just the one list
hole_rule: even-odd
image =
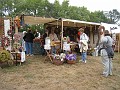
[[100,23],[94,22],[86,22],[72,19],[55,19],[55,18],[46,18],[46,17],[36,17],[36,16],[24,16],[24,23],[29,25],[37,25],[37,24],[50,24],[50,25],[59,25],[62,26],[70,26],[70,27],[81,27],[81,26],[93,26],[93,25],[101,25]]

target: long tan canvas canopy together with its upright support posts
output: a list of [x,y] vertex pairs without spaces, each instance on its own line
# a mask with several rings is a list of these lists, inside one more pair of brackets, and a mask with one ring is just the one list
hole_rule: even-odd
[[[62,34],[61,38],[63,38],[63,28],[64,27],[89,27],[90,31],[97,30],[97,28],[101,25],[100,23],[94,22],[86,22],[80,20],[72,20],[72,19],[64,19],[64,18],[43,18],[43,17],[34,17],[34,16],[24,16],[24,23],[29,25],[35,24],[45,24],[45,26],[59,26]],[[93,38],[93,33],[91,32],[91,39]],[[62,40],[62,39],[61,39]]]

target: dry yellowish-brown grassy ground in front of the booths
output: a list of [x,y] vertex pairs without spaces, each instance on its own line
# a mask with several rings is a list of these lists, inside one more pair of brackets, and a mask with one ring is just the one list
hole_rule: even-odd
[[[0,69],[0,90],[120,90],[120,54],[113,60],[113,76],[101,75],[100,57],[87,63],[57,66],[44,56],[27,57],[21,66]],[[80,56],[78,56],[78,60]]]

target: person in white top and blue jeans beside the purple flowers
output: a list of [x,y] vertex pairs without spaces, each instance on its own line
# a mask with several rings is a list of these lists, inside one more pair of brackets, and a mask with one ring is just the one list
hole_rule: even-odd
[[82,55],[82,62],[86,63],[89,38],[84,33],[83,28],[80,28],[79,31],[80,31],[79,48],[80,48],[80,52],[81,52],[81,55]]

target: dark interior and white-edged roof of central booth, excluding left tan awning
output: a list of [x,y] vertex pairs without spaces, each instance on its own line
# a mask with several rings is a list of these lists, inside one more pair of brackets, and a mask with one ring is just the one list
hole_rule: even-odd
[[[88,35],[90,39],[90,45],[92,46],[91,48],[96,47],[96,44],[98,42],[99,39],[98,27],[100,25],[101,25],[100,23],[71,20],[71,19],[61,19],[61,18],[45,24],[45,26],[55,27],[56,33],[61,35],[60,37],[61,42],[62,39],[67,36],[69,36],[70,41],[77,42],[76,39],[77,39],[78,29],[80,27],[84,27],[85,33]],[[61,43],[61,47],[62,45],[63,43]]]

